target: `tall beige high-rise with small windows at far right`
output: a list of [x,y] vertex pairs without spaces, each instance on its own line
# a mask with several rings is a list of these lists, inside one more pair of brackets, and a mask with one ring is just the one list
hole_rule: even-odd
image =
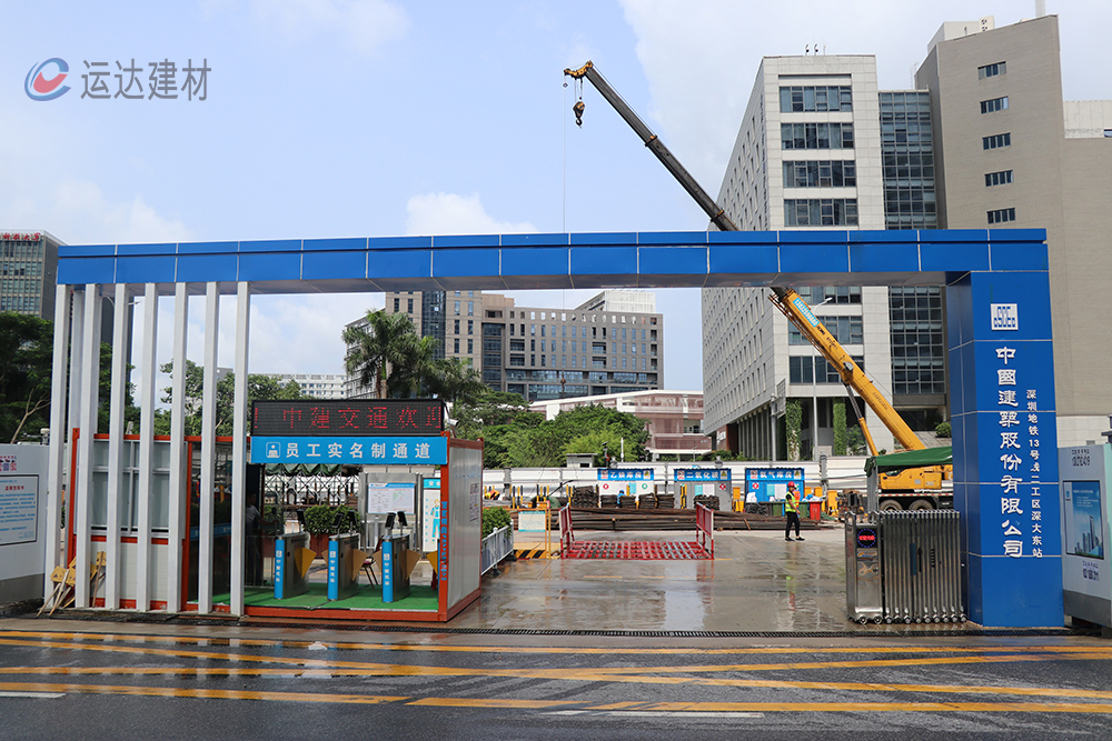
[[1112,414],[1112,101],[1062,101],[1058,17],[945,23],[916,74],[931,92],[939,226],[1044,228],[1059,443]]

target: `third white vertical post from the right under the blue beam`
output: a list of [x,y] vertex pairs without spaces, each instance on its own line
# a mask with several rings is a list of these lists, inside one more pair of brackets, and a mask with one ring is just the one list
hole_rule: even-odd
[[[166,560],[166,608],[181,609],[181,541],[185,532],[185,510],[189,503],[191,462],[186,460],[186,337],[189,321],[189,291],[186,283],[173,289],[173,377],[170,380],[170,549]],[[196,523],[195,523],[196,524]]]

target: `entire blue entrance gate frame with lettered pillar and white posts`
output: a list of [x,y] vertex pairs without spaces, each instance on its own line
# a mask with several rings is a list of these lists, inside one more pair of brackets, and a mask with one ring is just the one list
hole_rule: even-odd
[[[92,244],[59,248],[54,316],[54,385],[48,517],[57,521],[64,440],[73,428],[96,422],[98,377],[95,347],[100,297],[115,297],[116,338],[127,338],[126,307],[143,296],[140,394],[153,397],[153,344],[158,296],[176,297],[175,358],[186,349],[187,297],[206,296],[206,364],[216,360],[216,321],[224,294],[237,297],[234,475],[246,461],[246,378],[252,294],[377,292],[398,290],[519,290],[579,288],[709,288],[767,286],[945,286],[950,404],[954,444],[954,507],[962,518],[966,561],[963,592],[970,618],[983,625],[1060,625],[1062,569],[1051,352],[1050,282],[1043,230],[622,232],[391,237],[165,244]],[[125,340],[126,341],[126,340]],[[110,434],[122,438],[122,358],[112,372]],[[67,364],[68,363],[68,364]],[[66,369],[69,368],[67,374]],[[206,374],[206,382],[215,374]],[[175,379],[177,381],[177,379]],[[148,395],[149,394],[149,395]],[[183,394],[175,393],[175,399]],[[215,405],[215,381],[202,410]],[[67,418],[67,400],[69,417]],[[143,408],[140,434],[152,424]],[[180,420],[181,410],[171,410]],[[208,418],[206,418],[208,419]],[[180,422],[178,422],[180,423]],[[175,422],[171,422],[173,428]],[[208,425],[203,439],[215,430]],[[171,429],[171,442],[180,435]],[[146,437],[149,438],[149,434]],[[92,435],[81,435],[91,440]],[[1045,451],[1045,455],[1041,455]],[[79,447],[79,471],[89,471],[91,449]],[[111,455],[110,455],[111,459]],[[205,461],[202,461],[203,463]],[[111,464],[111,460],[110,460]],[[150,534],[150,453],[140,451],[140,542]],[[172,468],[172,461],[171,461]],[[202,479],[206,475],[202,465]],[[89,474],[91,475],[91,474]],[[148,488],[143,489],[143,483]],[[88,492],[79,483],[79,492]],[[112,519],[109,473],[108,521]],[[202,485],[203,489],[203,485]],[[234,518],[242,517],[242,481],[234,482]],[[183,493],[171,484],[170,542],[180,528]],[[89,502],[79,497],[78,573],[88,569]],[[208,512],[211,517],[211,512]],[[202,507],[202,532],[206,507]],[[143,519],[146,518],[146,519]],[[241,522],[232,521],[232,553],[242,552]],[[47,543],[48,554],[57,552]],[[109,541],[112,541],[109,538]],[[205,550],[202,549],[202,555]],[[180,554],[170,549],[156,563],[139,549],[137,604],[149,605],[158,579],[170,583]],[[48,555],[48,561],[52,557]],[[234,555],[234,568],[241,559]],[[115,561],[113,561],[115,562]],[[53,568],[47,563],[47,573]],[[208,568],[210,568],[210,561]],[[203,572],[202,567],[202,572]],[[107,579],[106,607],[119,602],[121,574]],[[79,580],[80,581],[80,580]],[[241,614],[241,573],[232,574],[231,612]],[[44,584],[44,589],[48,584]],[[200,595],[211,610],[211,593]],[[90,604],[79,587],[78,607]]]

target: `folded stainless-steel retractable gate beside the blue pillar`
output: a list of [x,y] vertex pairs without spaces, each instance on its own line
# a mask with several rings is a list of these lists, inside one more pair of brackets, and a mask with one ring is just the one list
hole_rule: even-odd
[[[887,623],[964,622],[959,517],[954,510],[884,511],[847,521],[850,618]],[[874,608],[875,572],[866,568],[873,567],[875,557],[858,542],[863,531],[871,534],[874,530],[880,544],[880,611]]]

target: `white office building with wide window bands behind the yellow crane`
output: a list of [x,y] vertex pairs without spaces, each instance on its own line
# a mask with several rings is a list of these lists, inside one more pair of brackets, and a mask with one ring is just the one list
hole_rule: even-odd
[[[894,113],[895,100],[885,99],[886,114]],[[906,129],[906,100],[898,100],[901,127]],[[917,118],[920,101],[912,103]],[[927,193],[922,182],[912,189],[910,172],[903,173],[906,187],[900,183],[902,172],[895,162],[909,152],[897,151],[894,118],[885,121],[884,133],[892,136],[887,151],[883,150],[881,109],[873,57],[766,57],[718,204],[746,230],[878,230],[888,223],[906,228],[926,223],[933,192]],[[904,137],[898,144],[906,150]],[[896,203],[886,203],[886,191],[896,193]],[[903,192],[909,199],[905,208],[898,204]],[[911,200],[913,192],[917,206]],[[891,394],[887,288],[794,288]],[[830,363],[770,303],[764,289],[703,290],[703,383],[704,429],[714,435],[716,448],[754,458],[785,458],[788,404],[798,404],[802,411],[803,458],[833,447],[835,404],[844,403],[845,389]],[[852,411],[848,418],[852,423]],[[891,433],[872,412],[866,412],[866,421],[877,447],[891,450]]]

